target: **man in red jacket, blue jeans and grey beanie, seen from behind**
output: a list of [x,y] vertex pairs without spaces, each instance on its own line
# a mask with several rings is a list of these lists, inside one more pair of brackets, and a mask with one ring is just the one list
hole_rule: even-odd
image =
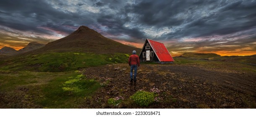
[[[128,59],[129,66],[131,66],[131,84],[133,83],[133,78],[134,78],[134,83],[136,83],[136,75],[137,75],[137,68],[140,66],[140,59],[138,58],[138,55],[136,55],[136,51],[133,51],[133,54],[129,57]],[[134,77],[133,77],[133,69],[134,69]]]

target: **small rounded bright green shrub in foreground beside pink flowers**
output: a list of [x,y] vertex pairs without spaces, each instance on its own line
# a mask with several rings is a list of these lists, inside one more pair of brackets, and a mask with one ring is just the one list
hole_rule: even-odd
[[131,99],[138,105],[147,107],[154,102],[156,94],[153,92],[138,91],[131,96]]

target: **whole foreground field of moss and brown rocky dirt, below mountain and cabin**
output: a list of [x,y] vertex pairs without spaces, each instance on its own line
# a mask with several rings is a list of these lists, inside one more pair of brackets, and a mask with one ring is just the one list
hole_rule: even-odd
[[128,64],[114,64],[119,59],[105,56],[109,63],[52,72],[44,64],[30,71],[2,66],[0,108],[256,108],[256,66],[175,58],[174,64],[141,64],[137,83],[130,84]]

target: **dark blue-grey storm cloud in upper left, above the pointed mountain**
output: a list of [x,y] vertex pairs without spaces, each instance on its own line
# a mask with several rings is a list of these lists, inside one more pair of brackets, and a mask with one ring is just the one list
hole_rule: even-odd
[[[65,3],[58,3],[63,6]],[[78,3],[78,6],[84,3]],[[19,31],[34,31],[37,33],[51,34],[49,31],[38,28],[40,26],[49,26],[58,31],[71,33],[73,30],[65,29],[60,25],[67,22],[71,26],[79,26],[77,23],[82,23],[81,18],[86,21],[85,25],[93,23],[93,19],[82,17],[78,13],[70,13],[60,11],[52,7],[49,3],[41,0],[6,0],[1,2],[0,10],[3,15],[0,19],[0,25],[7,26]],[[60,26],[60,27],[58,27]]]

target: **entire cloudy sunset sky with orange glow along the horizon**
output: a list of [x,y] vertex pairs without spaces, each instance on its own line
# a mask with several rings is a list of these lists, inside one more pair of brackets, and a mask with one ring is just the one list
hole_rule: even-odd
[[172,56],[256,54],[256,0],[0,0],[0,48],[47,44],[81,25],[138,48],[159,41]]

